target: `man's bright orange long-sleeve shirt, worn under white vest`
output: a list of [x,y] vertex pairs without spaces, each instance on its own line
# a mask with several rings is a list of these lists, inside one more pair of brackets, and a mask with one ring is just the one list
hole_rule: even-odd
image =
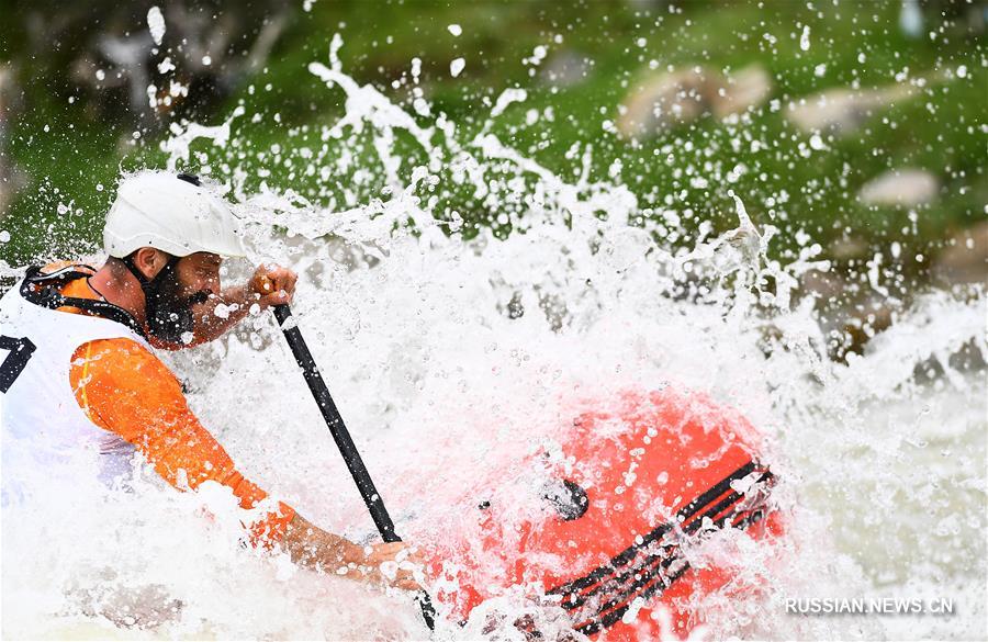
[[[100,299],[86,279],[68,282],[65,296]],[[75,307],[61,312],[85,314]],[[97,426],[133,443],[169,484],[194,489],[205,481],[233,489],[243,508],[267,497],[237,472],[233,460],[210,435],[186,401],[181,384],[146,348],[131,339],[98,339],[76,350],[69,382],[79,406]],[[284,536],[295,511],[284,503],[250,525],[266,545]]]

